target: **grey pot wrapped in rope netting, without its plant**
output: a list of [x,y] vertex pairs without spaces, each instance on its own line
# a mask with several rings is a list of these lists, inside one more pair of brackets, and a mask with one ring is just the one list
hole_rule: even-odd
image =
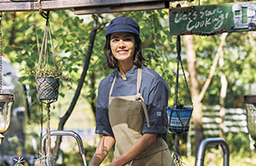
[[38,100],[58,100],[60,79],[55,77],[36,77]]

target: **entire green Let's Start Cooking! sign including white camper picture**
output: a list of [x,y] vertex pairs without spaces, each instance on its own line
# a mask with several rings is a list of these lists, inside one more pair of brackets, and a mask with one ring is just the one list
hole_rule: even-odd
[[256,2],[171,8],[169,15],[172,36],[207,36],[256,28]]

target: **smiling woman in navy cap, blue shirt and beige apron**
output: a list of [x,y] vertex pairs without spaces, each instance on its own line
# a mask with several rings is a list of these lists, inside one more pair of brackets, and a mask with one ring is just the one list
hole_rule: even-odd
[[102,138],[90,165],[100,165],[115,143],[109,165],[171,165],[167,134],[168,86],[144,66],[139,26],[118,17],[106,28],[106,66],[117,68],[100,83],[96,133]]

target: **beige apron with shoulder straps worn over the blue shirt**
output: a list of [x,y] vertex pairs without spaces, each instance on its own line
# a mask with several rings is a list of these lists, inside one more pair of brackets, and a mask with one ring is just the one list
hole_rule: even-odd
[[[150,128],[148,111],[139,89],[142,81],[142,69],[137,71],[137,94],[129,96],[112,97],[113,85],[109,92],[108,117],[115,138],[115,159],[124,154],[143,134],[143,122],[146,117]],[[172,157],[166,141],[157,137],[154,144],[125,166],[160,166],[172,163]]]

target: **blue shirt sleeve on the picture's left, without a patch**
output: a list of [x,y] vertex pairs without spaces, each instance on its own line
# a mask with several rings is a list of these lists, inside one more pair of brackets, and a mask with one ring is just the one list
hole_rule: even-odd
[[96,100],[96,134],[113,136],[108,119],[108,87],[104,80],[99,85]]

